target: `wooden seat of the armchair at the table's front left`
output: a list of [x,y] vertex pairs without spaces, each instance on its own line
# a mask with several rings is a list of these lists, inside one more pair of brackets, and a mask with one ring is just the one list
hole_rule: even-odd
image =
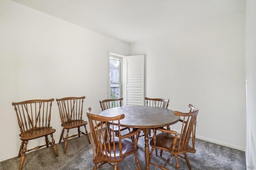
[[[113,150],[113,139],[110,142],[111,150],[110,150],[110,152],[109,152],[109,150],[107,150],[108,157],[110,158],[110,154],[111,154],[111,156],[112,156],[111,160],[113,160],[114,153],[116,153],[116,159],[112,162],[118,162],[118,160],[123,160],[126,156],[128,156],[130,154],[134,154],[138,151],[138,147],[136,149],[134,149],[133,142],[130,142],[125,139],[121,139],[121,142],[122,142],[122,153],[123,153],[122,158],[120,157],[120,151],[119,151],[119,138],[115,137],[115,149],[116,149],[115,151]],[[106,145],[108,145],[108,143],[106,143]],[[105,159],[105,157],[103,159]]]

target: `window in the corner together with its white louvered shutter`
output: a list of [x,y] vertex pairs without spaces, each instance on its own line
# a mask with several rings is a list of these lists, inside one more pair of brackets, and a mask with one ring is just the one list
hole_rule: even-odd
[[144,105],[144,55],[110,53],[110,99],[123,97],[123,105]]

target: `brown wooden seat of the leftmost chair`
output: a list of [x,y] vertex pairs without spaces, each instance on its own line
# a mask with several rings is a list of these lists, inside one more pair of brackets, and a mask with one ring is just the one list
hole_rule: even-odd
[[31,140],[35,138],[40,138],[42,136],[52,134],[56,130],[52,127],[40,127],[40,128],[33,128],[31,130],[27,130],[24,133],[20,134],[20,140]]

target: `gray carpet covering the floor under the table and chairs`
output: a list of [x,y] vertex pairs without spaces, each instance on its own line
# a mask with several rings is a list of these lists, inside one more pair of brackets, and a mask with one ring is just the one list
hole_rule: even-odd
[[[58,138],[57,136],[54,136]],[[17,138],[18,139],[18,138]],[[139,138],[139,151],[137,153],[142,166],[145,169],[144,158],[144,137]],[[29,147],[29,143],[28,143]],[[52,146],[42,148],[35,152],[26,154],[23,170],[90,170],[94,164],[92,162],[92,147],[88,143],[85,135],[80,138],[72,138],[68,141],[66,154],[63,154],[64,143],[57,144],[58,157],[55,157]],[[150,147],[151,150],[151,147]],[[160,150],[158,150],[159,152]],[[18,153],[18,150],[17,150]],[[158,153],[160,155],[160,153]],[[166,158],[170,154],[163,153],[163,157],[153,154],[151,162],[164,164]],[[196,139],[196,153],[188,153],[192,170],[246,170],[245,152],[236,150],[226,146],[206,142]],[[187,170],[186,161],[179,158],[180,169]],[[11,158],[0,162],[0,170],[18,170],[20,158]],[[127,156],[124,162],[118,163],[118,167],[122,170],[136,169],[134,155]],[[175,158],[166,166],[170,170],[176,169]],[[114,168],[108,164],[104,164],[101,170],[113,170]],[[158,168],[150,165],[150,170],[158,170]]]

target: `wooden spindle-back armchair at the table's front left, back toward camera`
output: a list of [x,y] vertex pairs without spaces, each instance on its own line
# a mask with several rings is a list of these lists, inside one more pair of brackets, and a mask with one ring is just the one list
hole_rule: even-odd
[[[117,166],[118,162],[124,161],[124,158],[130,154],[134,154],[135,162],[138,167],[137,169],[141,170],[141,166],[136,154],[138,151],[137,143],[140,129],[134,129],[132,132],[121,136],[120,120],[124,119],[124,114],[116,117],[103,117],[100,115],[91,114],[90,112],[91,108],[87,110],[87,117],[89,121],[90,135],[92,140],[93,162],[95,164],[93,170],[97,170],[105,163],[114,166],[114,169],[117,170],[119,169]],[[114,135],[115,132],[113,129],[111,129],[111,133],[113,136],[111,138],[109,136],[109,133],[104,132],[104,125],[107,124],[118,125],[118,136]],[[110,131],[110,129],[108,128],[109,127],[106,126],[106,130]],[[134,142],[124,139],[130,136],[134,136],[135,134],[136,138]]]

